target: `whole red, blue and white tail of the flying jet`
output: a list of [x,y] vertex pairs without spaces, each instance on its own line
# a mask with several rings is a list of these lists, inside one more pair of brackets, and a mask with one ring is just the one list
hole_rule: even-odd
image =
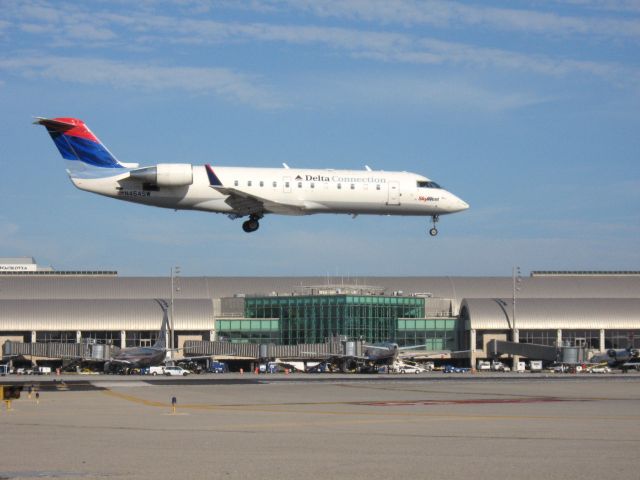
[[34,123],[47,129],[72,177],[113,175],[120,173],[119,169],[138,166],[120,162],[82,120],[37,117]]

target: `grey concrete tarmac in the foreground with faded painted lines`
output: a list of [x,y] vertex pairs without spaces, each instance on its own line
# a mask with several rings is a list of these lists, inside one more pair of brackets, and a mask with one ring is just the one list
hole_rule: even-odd
[[1,409],[0,479],[640,476],[638,375],[52,380]]

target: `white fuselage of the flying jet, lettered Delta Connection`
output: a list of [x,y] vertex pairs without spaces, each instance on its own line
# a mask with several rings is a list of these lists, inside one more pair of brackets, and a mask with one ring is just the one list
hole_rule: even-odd
[[[439,216],[469,207],[442,188],[424,187],[425,183],[431,185],[428,178],[408,172],[242,167],[214,167],[214,170],[225,189],[251,199],[265,199],[263,214]],[[193,182],[178,187],[144,185],[130,178],[128,171],[110,177],[71,180],[82,190],[144,205],[246,214],[238,211],[237,204],[227,201],[230,195],[212,187],[204,166],[194,165]]]

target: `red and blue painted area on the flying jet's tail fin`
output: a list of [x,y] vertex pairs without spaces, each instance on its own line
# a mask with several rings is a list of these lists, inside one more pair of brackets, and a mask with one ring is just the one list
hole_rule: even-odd
[[79,161],[99,168],[125,168],[98,140],[82,120],[76,118],[38,118],[46,127],[60,154],[66,160]]

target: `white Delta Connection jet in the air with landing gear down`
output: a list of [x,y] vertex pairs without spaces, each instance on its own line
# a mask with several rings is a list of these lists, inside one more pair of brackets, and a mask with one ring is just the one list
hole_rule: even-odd
[[123,163],[76,118],[36,117],[79,189],[174,210],[200,210],[248,217],[242,229],[255,232],[267,214],[316,213],[431,217],[431,236],[441,215],[469,205],[422,175],[409,172],[331,169],[213,167],[210,164]]

